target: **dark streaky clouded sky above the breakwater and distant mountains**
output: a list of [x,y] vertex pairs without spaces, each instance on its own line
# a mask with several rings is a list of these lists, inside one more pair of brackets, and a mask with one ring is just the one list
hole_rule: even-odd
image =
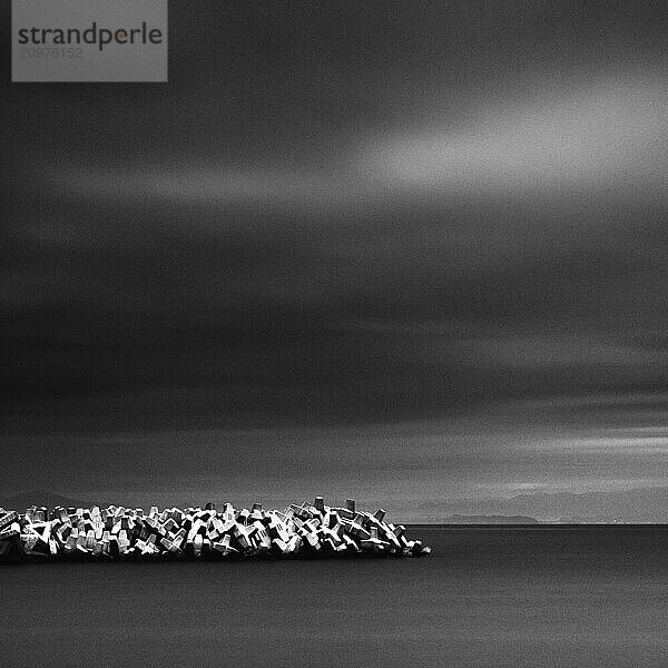
[[10,84],[2,7],[7,492],[668,484],[662,3],[169,11]]

